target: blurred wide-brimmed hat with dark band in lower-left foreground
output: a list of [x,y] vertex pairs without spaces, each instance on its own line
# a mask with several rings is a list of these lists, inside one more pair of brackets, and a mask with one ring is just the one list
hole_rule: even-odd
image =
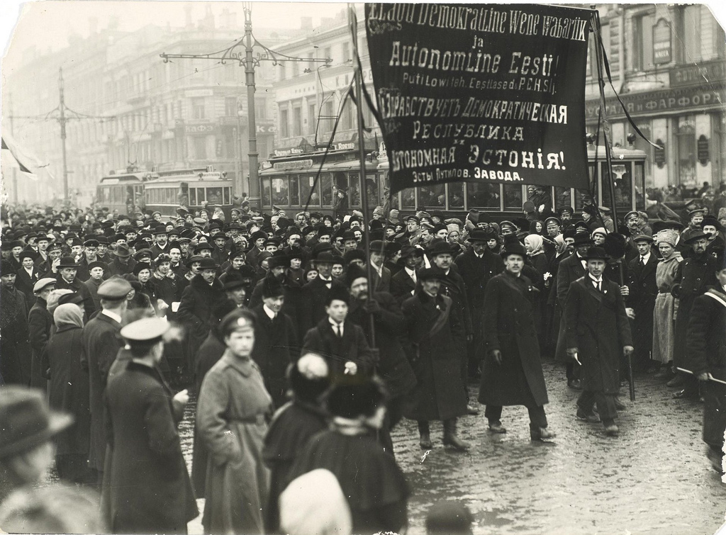
[[28,452],[73,423],[70,414],[51,411],[36,388],[0,388],[0,459]]

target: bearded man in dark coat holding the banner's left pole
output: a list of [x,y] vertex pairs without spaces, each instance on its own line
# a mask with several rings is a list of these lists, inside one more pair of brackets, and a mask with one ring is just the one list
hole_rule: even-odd
[[[391,430],[403,417],[407,394],[416,384],[413,369],[401,345],[401,332],[406,326],[404,316],[390,293],[369,294],[367,276],[358,266],[348,267],[346,285],[351,294],[348,319],[362,328],[371,347],[379,348],[375,372],[386,383],[390,396],[386,414],[387,432],[381,437],[381,442],[387,452],[393,453]],[[375,346],[372,344],[373,328]]]

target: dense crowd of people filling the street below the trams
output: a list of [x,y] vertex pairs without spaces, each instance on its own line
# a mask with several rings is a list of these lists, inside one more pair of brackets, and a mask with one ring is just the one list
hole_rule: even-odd
[[[54,462],[100,492],[114,533],[184,533],[199,497],[207,533],[399,532],[410,489],[394,426],[415,420],[425,450],[441,421],[441,443],[465,451],[461,417],[484,405],[506,433],[503,409],[520,405],[531,439],[551,441],[544,359],[581,392],[572,417],[606,436],[638,374],[703,399],[722,470],[722,224],[701,209],[682,224],[533,206],[498,222],[248,203],[213,217],[10,209],[0,528],[38,526],[14,496]],[[177,430],[190,391],[191,474]],[[26,457],[41,468],[26,473]]]

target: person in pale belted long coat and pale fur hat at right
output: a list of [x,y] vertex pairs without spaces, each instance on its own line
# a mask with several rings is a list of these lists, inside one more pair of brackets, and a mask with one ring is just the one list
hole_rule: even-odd
[[656,306],[653,309],[653,356],[652,359],[661,363],[661,371],[656,377],[669,380],[673,377],[673,346],[675,340],[675,312],[678,309],[678,300],[671,295],[678,260],[675,245],[678,232],[665,229],[655,236],[656,246],[661,253],[661,261],[656,267]]

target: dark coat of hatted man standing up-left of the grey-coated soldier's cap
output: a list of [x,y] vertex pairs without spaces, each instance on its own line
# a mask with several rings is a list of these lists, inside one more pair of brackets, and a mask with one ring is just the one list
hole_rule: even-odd
[[214,279],[210,286],[204,282],[200,274],[195,275],[181,294],[176,319],[187,327],[188,351],[192,359],[196,359],[199,346],[209,334],[212,309],[219,301],[227,301],[222,283],[219,279]]

